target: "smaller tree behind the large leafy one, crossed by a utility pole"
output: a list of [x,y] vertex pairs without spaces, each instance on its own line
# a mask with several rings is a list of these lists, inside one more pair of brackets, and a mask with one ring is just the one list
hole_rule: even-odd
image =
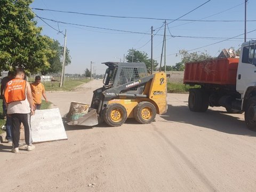
[[[62,70],[62,58],[63,58],[63,50],[64,47],[60,45],[57,40],[53,40],[50,42],[50,47],[53,52],[52,57],[49,58],[50,67],[42,70],[42,75],[46,75],[47,73],[60,73]],[[71,63],[71,58],[69,55],[69,50],[66,49],[66,61],[65,66]]]

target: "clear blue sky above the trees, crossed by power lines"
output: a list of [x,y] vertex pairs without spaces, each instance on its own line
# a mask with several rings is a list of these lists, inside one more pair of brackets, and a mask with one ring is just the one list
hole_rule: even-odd
[[[153,58],[160,63],[165,19],[168,23],[166,27],[167,66],[173,66],[181,61],[180,55],[177,55],[180,50],[207,51],[213,57],[217,57],[222,49],[229,47],[238,49],[244,42],[244,2],[245,0],[34,0],[30,7],[43,9],[32,9],[38,17],[59,21],[43,19],[46,24],[41,19],[35,18],[37,26],[43,28],[43,35],[57,39],[63,45],[64,36],[58,31],[65,33],[67,30],[67,48],[70,51],[71,64],[66,67],[66,73],[83,74],[86,68],[90,70],[92,62],[95,73],[104,74],[106,66],[102,62],[123,61],[129,49],[146,52],[148,57],[151,57],[151,26],[154,29]],[[249,33],[256,29],[255,7],[256,1],[248,0],[247,41],[256,39],[256,31]],[[183,15],[185,16],[182,17]],[[203,21],[181,21],[181,19]],[[235,36],[237,37],[233,38]]]

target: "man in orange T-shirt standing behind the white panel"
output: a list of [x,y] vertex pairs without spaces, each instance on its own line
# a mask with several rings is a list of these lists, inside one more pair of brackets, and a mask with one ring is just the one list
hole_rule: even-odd
[[36,109],[40,109],[41,103],[42,103],[42,95],[43,95],[45,101],[48,102],[48,100],[46,98],[46,94],[45,94],[44,85],[41,83],[41,77],[36,76],[35,82],[31,83],[30,87],[31,87],[34,105],[35,105]]

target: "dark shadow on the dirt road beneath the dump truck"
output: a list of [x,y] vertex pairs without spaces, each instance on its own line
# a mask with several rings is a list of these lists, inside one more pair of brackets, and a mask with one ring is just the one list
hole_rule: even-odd
[[188,106],[168,105],[167,113],[161,117],[170,122],[186,123],[224,133],[256,137],[256,132],[247,129],[243,119],[227,114],[225,111],[208,109],[205,113],[195,113],[190,111]]

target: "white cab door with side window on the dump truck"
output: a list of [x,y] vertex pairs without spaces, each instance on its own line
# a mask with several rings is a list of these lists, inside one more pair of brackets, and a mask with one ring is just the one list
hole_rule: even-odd
[[246,43],[244,46],[242,45],[241,55],[237,69],[236,90],[243,94],[248,86],[256,82],[255,45],[250,43]]

